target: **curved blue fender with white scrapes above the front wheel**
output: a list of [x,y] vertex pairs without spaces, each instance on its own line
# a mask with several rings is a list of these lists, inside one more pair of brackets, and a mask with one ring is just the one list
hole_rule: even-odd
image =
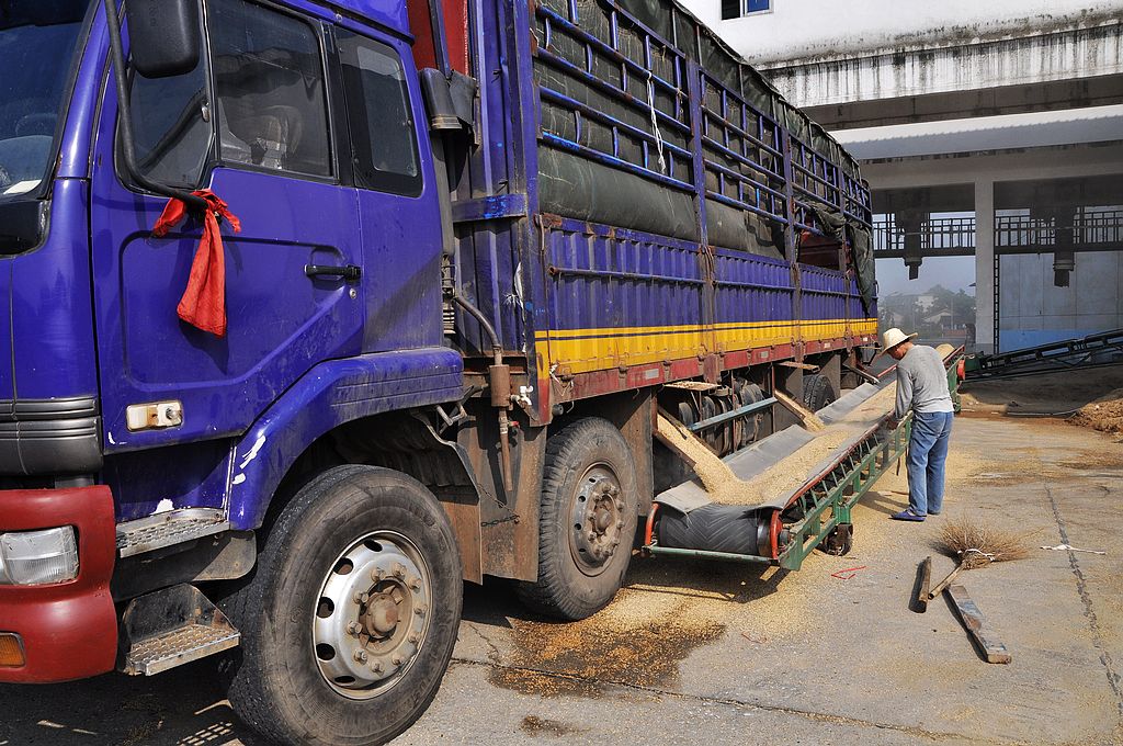
[[281,480],[320,436],[362,417],[457,401],[463,386],[464,361],[445,347],[372,353],[316,365],[237,445],[230,468],[231,528],[261,527]]

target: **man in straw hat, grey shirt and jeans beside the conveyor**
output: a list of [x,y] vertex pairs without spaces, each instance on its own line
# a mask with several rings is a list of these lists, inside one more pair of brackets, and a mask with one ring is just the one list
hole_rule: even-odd
[[915,334],[889,329],[882,353],[897,361],[896,419],[913,412],[909,440],[909,507],[891,518],[922,521],[943,507],[943,466],[955,408],[943,358],[932,347],[913,344]]

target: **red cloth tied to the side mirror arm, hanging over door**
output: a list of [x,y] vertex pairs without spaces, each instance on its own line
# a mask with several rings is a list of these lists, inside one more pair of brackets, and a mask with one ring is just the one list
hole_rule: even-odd
[[[203,216],[203,235],[191,262],[188,286],[180,298],[175,311],[191,326],[209,331],[216,337],[226,336],[226,252],[222,234],[218,229],[218,218],[225,218],[235,233],[241,230],[241,222],[230,212],[226,202],[209,189],[192,192],[207,200],[208,210]],[[152,235],[162,238],[179,225],[188,213],[183,200],[170,199],[164,206]]]

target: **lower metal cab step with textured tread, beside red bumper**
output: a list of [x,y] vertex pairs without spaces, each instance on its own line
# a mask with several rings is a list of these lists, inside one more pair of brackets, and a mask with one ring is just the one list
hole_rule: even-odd
[[133,599],[121,618],[119,670],[150,676],[236,647],[240,633],[199,589],[186,583]]

